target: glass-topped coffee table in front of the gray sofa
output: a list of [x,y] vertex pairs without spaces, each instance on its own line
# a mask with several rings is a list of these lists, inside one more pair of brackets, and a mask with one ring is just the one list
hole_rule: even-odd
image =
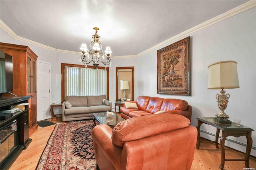
[[[116,115],[114,113],[114,115],[112,117],[107,117],[106,116],[106,112],[103,113],[93,113],[93,122],[94,125],[96,125],[96,121],[98,124],[105,124],[108,125],[111,128],[114,128],[118,123],[124,121],[125,119],[123,119],[122,117]],[[96,120],[96,121],[95,121]]]

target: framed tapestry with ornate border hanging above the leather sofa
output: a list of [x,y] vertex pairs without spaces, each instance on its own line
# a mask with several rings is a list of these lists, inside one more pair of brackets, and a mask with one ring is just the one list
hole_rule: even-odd
[[190,96],[190,37],[157,51],[157,94]]

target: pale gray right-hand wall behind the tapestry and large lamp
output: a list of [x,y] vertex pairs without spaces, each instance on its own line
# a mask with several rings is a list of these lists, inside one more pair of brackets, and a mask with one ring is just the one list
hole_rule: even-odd
[[[217,61],[237,61],[240,88],[226,89],[230,94],[225,113],[230,120],[241,119],[242,124],[256,130],[256,8],[208,26],[189,34],[191,57],[191,96],[157,95],[157,50],[138,58],[138,87],[136,96],[148,95],[162,98],[178,98],[192,105],[191,125],[197,125],[197,117],[214,117],[219,112],[215,95],[220,90],[207,89],[208,65]],[[185,37],[183,37],[185,38]],[[160,48],[159,48],[160,49]],[[203,124],[201,129],[216,134],[216,128]],[[201,133],[201,136],[214,140],[214,136]],[[246,144],[245,136],[228,137]],[[252,132],[253,149],[256,155],[256,132]],[[245,152],[239,144],[226,141],[226,144]]]

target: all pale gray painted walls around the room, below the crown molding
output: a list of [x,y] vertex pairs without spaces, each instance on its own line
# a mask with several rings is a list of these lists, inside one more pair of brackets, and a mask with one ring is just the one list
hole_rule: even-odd
[[[226,113],[230,120],[241,119],[242,125],[256,130],[256,7],[232,16],[226,20],[188,34],[190,36],[191,52],[191,96],[158,95],[157,85],[157,49],[136,58],[112,57],[110,67],[110,100],[116,99],[116,67],[134,66],[134,87],[136,99],[140,95],[152,97],[184,99],[192,105],[191,125],[196,126],[196,117],[214,117],[219,111],[215,99],[219,90],[208,90],[208,65],[217,61],[237,61],[240,88],[227,89],[230,101]],[[0,30],[1,42],[28,45],[37,55],[38,60],[51,64],[51,102],[61,101],[61,69],[60,63],[80,64],[79,55],[59,53],[42,47],[16,40]],[[182,39],[180,38],[180,39]],[[166,38],[167,39],[167,38]],[[173,43],[173,42],[172,42]],[[169,44],[163,45],[167,46]],[[158,49],[160,49],[159,47]],[[79,47],[78,47],[79,50]],[[60,110],[59,110],[60,112]],[[216,128],[209,125],[201,126],[201,136],[214,140]],[[228,137],[226,145],[245,152],[244,136]],[[252,132],[253,148],[251,154],[256,156],[256,132]],[[236,144],[236,141],[240,144]]]

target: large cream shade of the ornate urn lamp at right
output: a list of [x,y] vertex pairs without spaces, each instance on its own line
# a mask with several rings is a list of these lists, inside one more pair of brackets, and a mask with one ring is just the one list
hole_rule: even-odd
[[239,88],[236,61],[220,61],[208,66],[208,89]]

